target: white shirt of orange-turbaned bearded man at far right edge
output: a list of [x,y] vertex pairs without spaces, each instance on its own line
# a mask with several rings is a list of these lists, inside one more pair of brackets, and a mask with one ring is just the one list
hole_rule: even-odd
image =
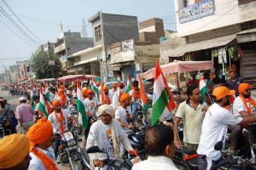
[[[251,97],[254,101],[256,101],[255,98]],[[255,112],[255,107],[249,102],[247,102],[247,106],[251,107],[252,111]],[[244,105],[244,103],[242,102],[240,96],[238,96],[233,103],[233,111],[234,111],[234,115],[235,116],[241,116],[241,114],[239,113],[240,111],[246,111],[247,112],[247,108]]]

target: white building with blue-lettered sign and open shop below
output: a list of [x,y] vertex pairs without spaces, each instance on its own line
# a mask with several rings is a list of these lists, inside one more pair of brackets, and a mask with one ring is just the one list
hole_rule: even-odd
[[[254,79],[255,0],[175,0],[174,3],[177,38],[161,42],[160,60],[213,60],[217,75],[225,77],[235,70],[248,82]],[[250,59],[253,62],[248,63]]]

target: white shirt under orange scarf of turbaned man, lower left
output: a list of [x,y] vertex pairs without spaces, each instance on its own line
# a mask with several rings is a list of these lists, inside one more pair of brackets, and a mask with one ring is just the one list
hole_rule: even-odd
[[[38,148],[36,146],[35,148],[37,148],[38,150],[43,152],[46,156],[49,156],[49,158],[55,161],[54,150],[52,150],[51,148],[49,148],[48,150],[42,150],[41,148]],[[29,155],[31,156],[32,159],[29,163],[28,170],[46,170],[46,168],[44,167],[44,163],[38,158],[38,156],[35,156],[32,152],[30,152]]]

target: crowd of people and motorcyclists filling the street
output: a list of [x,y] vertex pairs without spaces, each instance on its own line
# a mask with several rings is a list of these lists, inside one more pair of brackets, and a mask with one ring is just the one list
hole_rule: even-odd
[[[195,75],[192,77],[187,82],[188,99],[177,105],[177,112],[173,116],[174,125],[162,120],[159,125],[148,128],[144,137],[148,159],[138,162],[132,169],[177,169],[172,157],[175,147],[181,149],[183,145],[197,150],[201,170],[211,169],[223,159],[221,153],[214,150],[214,144],[224,141],[228,130],[228,150],[232,155],[236,155],[240,147],[240,134],[246,144],[255,143],[253,123],[256,122],[256,100],[251,96],[252,87],[236,77],[235,71],[230,71],[230,79],[226,82],[218,82],[216,77],[211,78],[211,74],[206,72],[204,79],[211,94],[207,95],[213,100],[213,103],[209,103],[201,101],[199,81]],[[127,138],[127,133],[136,127],[128,123],[127,118],[136,114],[141,94],[138,82],[131,80],[131,77],[128,81],[132,84],[129,92],[124,82],[113,84],[112,89],[100,82],[96,82],[96,89],[90,88],[89,84],[82,88],[89,122],[88,127],[84,128],[84,147],[88,149],[97,145],[116,160],[124,158],[125,150],[137,155],[137,150],[132,148]],[[6,100],[0,98],[0,118],[7,116],[13,122],[17,119],[17,133],[0,140],[0,169],[57,169],[55,160],[60,145],[58,137],[68,130],[67,119],[82,128],[82,122],[67,110],[68,105],[76,105],[76,83],[79,82],[74,82],[73,88],[63,84],[51,86],[49,101],[45,94],[46,87],[35,87],[37,92],[40,89],[43,91],[49,115],[41,110],[37,95],[31,102],[26,97],[20,97],[16,111],[12,111]],[[177,133],[180,122],[184,126],[183,141]],[[11,156],[17,159],[14,161]],[[105,158],[104,154],[90,154],[91,167],[104,167]]]

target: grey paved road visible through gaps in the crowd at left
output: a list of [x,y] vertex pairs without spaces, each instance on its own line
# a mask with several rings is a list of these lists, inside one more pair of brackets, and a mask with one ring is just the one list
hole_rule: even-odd
[[[9,91],[0,91],[0,97],[7,99],[8,103],[12,106],[12,109],[16,111],[17,105],[20,105],[20,96],[18,95],[9,95]],[[82,138],[82,136],[80,136]],[[70,170],[71,168],[68,165],[58,165],[60,170]]]

